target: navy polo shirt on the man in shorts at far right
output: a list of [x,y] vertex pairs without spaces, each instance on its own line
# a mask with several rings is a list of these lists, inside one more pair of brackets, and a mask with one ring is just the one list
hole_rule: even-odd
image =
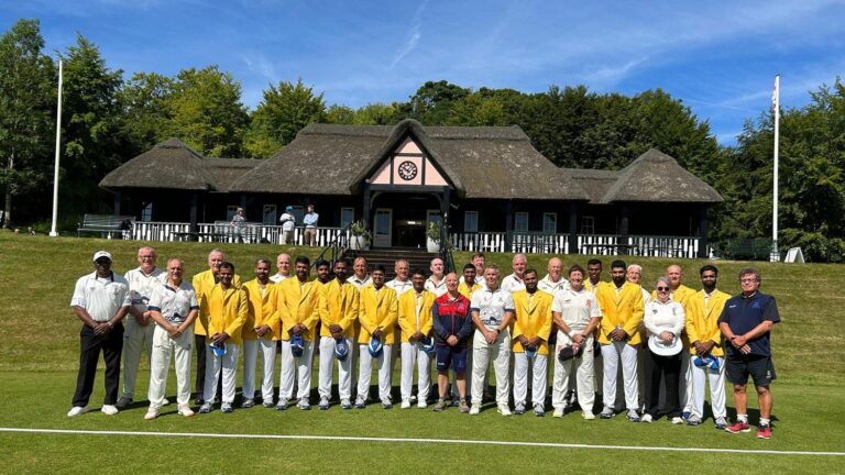
[[[740,294],[729,298],[725,302],[722,314],[718,317],[718,322],[727,323],[731,327],[731,331],[736,335],[751,331],[765,320],[777,323],[780,321],[780,314],[778,313],[778,305],[775,302],[775,297],[759,291],[748,297]],[[754,340],[749,340],[748,346],[751,349],[751,354],[770,356],[770,338],[771,332],[766,332]],[[727,354],[729,356],[740,355],[739,350],[735,349],[732,344],[728,343],[725,346],[727,346]]]

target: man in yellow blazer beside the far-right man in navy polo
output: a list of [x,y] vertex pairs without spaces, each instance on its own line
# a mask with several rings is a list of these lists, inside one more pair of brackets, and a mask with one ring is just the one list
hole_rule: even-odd
[[[704,418],[704,386],[710,380],[710,404],[716,429],[727,427],[725,411],[725,351],[718,317],[729,295],[716,288],[718,269],[705,265],[699,270],[704,287],[687,300],[687,335],[690,339],[691,378],[687,394],[692,395],[692,407],[687,424],[698,426]],[[714,361],[715,363],[709,363]],[[698,365],[695,364],[698,360]],[[706,365],[703,363],[707,362]]]

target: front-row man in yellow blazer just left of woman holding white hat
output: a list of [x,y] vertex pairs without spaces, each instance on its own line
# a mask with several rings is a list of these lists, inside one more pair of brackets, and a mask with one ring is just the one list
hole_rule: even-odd
[[627,417],[632,422],[639,422],[637,347],[640,343],[639,327],[644,312],[643,291],[638,285],[627,281],[625,274],[625,263],[614,261],[611,264],[613,281],[599,285],[595,292],[604,316],[599,332],[604,363],[604,409],[599,417],[610,419],[615,415],[616,372],[622,361]]

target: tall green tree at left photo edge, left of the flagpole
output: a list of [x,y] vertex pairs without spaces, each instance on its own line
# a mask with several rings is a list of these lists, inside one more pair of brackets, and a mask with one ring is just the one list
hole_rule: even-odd
[[20,20],[0,36],[0,187],[6,228],[12,227],[13,200],[31,196],[51,176],[55,67],[43,47],[37,20]]

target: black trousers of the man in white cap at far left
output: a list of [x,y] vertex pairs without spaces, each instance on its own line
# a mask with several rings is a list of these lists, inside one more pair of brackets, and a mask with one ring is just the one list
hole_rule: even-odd
[[88,399],[94,390],[94,378],[97,375],[97,362],[100,351],[106,361],[106,398],[105,405],[118,402],[118,384],[120,382],[120,354],[123,351],[123,324],[117,323],[105,335],[95,335],[94,329],[83,325],[79,332],[79,373],[76,376],[76,391],[73,405],[88,406]]

